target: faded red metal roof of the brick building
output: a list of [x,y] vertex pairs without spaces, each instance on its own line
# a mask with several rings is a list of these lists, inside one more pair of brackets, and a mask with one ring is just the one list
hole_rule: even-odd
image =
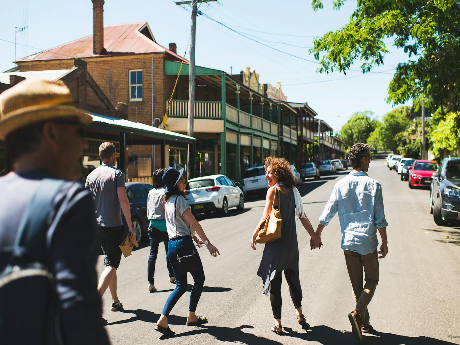
[[[142,33],[141,33],[142,31]],[[93,54],[92,35],[83,37],[43,52],[38,52],[17,61],[66,59],[81,57],[107,57],[113,55],[131,55],[167,52],[171,57],[182,61],[182,57],[156,43],[151,35],[149,24],[132,23],[104,26],[105,54]],[[185,62],[188,63],[187,60]]]

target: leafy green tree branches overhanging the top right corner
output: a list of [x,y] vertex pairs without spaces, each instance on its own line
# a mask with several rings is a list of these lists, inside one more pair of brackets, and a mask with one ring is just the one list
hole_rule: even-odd
[[[333,0],[340,9],[345,0]],[[322,0],[312,0],[315,11]],[[350,21],[314,40],[310,53],[320,61],[320,73],[346,74],[355,62],[363,73],[384,63],[385,40],[408,54],[388,87],[387,101],[403,104],[428,95],[434,106],[460,109],[460,1],[357,0]]]

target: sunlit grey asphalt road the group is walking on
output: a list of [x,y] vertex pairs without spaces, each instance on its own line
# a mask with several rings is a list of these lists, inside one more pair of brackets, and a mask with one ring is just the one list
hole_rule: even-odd
[[[314,228],[335,182],[347,172],[309,180],[299,186]],[[388,221],[389,254],[380,260],[380,282],[369,305],[373,335],[364,344],[460,344],[460,229],[437,226],[429,213],[429,191],[409,189],[389,171],[384,160],[371,162],[369,175],[382,184]],[[160,250],[155,272],[159,292],[147,291],[148,242],[122,259],[118,294],[123,311],[110,311],[109,291],[103,297],[105,327],[112,344],[356,344],[347,314],[354,309],[351,284],[340,248],[339,219],[323,231],[324,247],[310,250],[309,236],[298,221],[300,281],[303,311],[309,327],[297,323],[287,284],[282,285],[284,335],[270,331],[270,301],[256,275],[264,246],[253,251],[250,236],[264,201],[247,201],[243,211],[230,210],[200,219],[220,256],[200,249],[206,281],[197,313],[210,322],[185,325],[190,293],[184,294],[169,317],[177,335],[161,337],[153,328],[169,293],[165,253]],[[98,271],[104,268],[102,257]],[[189,291],[190,282],[189,275]]]

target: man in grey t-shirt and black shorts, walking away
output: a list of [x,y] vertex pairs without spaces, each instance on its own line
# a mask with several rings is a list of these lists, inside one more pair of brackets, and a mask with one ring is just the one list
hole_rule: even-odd
[[[123,307],[116,292],[116,269],[121,260],[119,246],[124,239],[120,208],[132,235],[130,242],[134,242],[136,236],[132,231],[131,210],[125,188],[125,174],[114,167],[116,163],[115,145],[109,142],[102,143],[99,146],[99,157],[103,164],[88,175],[85,187],[90,190],[92,195],[94,213],[101,231],[99,238],[105,255],[104,265],[106,267],[99,278],[98,292],[102,296],[109,288],[112,295],[111,311],[118,311]],[[105,319],[103,321],[106,322]]]

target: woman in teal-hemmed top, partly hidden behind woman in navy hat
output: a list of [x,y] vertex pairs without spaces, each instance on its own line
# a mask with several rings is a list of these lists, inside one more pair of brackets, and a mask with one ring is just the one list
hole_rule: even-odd
[[173,269],[169,263],[168,253],[168,234],[166,232],[165,204],[163,197],[165,195],[165,185],[161,181],[165,169],[157,169],[153,174],[153,189],[150,190],[147,198],[147,217],[150,220],[149,240],[150,255],[147,264],[147,279],[149,281],[149,291],[155,292],[155,261],[158,256],[158,245],[163,241],[166,250],[166,264],[169,273],[169,282],[175,284]]

